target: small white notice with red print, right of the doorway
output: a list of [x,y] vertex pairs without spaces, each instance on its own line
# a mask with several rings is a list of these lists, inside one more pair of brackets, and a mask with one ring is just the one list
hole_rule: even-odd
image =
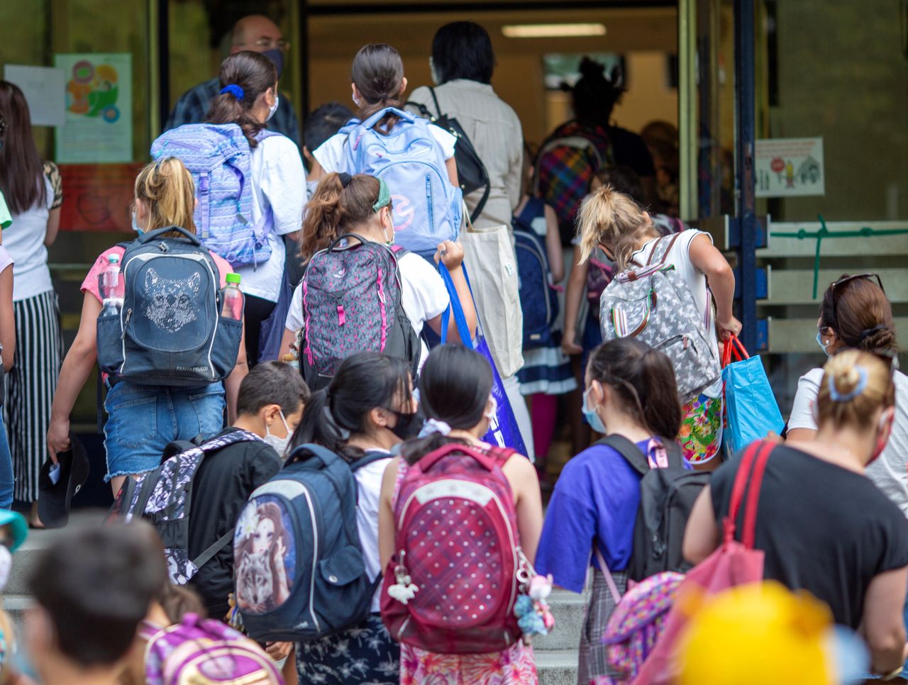
[[825,195],[822,138],[757,141],[754,154],[756,197]]

